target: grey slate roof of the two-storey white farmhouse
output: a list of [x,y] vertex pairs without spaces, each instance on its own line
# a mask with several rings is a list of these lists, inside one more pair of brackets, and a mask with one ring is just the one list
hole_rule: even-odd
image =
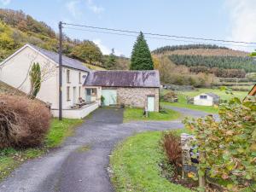
[[[37,49],[41,54],[49,57],[52,61],[55,61],[55,63],[59,63],[59,54],[53,51],[49,51],[46,49],[39,48],[38,46],[28,44],[32,46],[32,48]],[[82,71],[90,72],[90,69],[85,67],[84,64],[81,61],[69,58],[65,55],[62,55],[62,66],[64,67],[71,67],[74,69],[79,69]]]

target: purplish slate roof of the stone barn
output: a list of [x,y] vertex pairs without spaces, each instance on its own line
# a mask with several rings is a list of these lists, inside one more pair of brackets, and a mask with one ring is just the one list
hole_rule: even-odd
[[160,87],[157,70],[152,71],[95,71],[84,81],[84,86],[105,87]]

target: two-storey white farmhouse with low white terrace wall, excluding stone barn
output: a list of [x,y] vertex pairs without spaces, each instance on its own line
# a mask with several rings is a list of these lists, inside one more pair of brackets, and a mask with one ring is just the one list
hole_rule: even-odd
[[[55,52],[26,44],[0,63],[0,81],[25,93],[31,89],[29,72],[32,63],[40,64],[42,84],[37,98],[48,103],[51,113],[57,117],[59,108],[59,55]],[[67,56],[62,56],[62,108],[63,117],[83,118],[96,109],[100,98],[95,102],[86,103],[83,108],[73,108],[85,98],[84,79],[90,69],[83,63]]]

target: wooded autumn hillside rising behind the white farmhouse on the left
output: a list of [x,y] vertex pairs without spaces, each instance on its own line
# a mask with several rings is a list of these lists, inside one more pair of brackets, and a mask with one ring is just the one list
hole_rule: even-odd
[[[78,40],[63,35],[63,54],[83,61],[88,65],[106,68],[106,58],[102,51],[90,40]],[[0,9],[0,61],[24,44],[34,44],[43,49],[58,51],[58,34],[43,21],[32,18],[22,11]],[[117,69],[126,68],[129,60],[117,58]],[[96,68],[92,67],[92,68]]]

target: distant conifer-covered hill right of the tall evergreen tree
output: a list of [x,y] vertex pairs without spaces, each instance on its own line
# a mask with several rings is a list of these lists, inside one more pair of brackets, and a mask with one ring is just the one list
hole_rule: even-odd
[[244,78],[256,72],[256,61],[249,53],[209,44],[165,46],[152,51],[166,56],[177,66],[189,67],[191,73],[213,73],[222,78]]

